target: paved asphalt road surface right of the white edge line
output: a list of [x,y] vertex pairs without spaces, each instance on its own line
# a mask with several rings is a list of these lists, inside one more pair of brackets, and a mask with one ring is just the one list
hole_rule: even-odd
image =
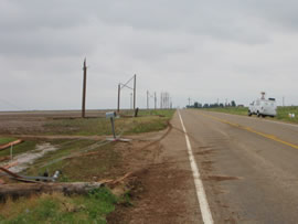
[[180,114],[214,223],[298,222],[298,126],[202,110]]

